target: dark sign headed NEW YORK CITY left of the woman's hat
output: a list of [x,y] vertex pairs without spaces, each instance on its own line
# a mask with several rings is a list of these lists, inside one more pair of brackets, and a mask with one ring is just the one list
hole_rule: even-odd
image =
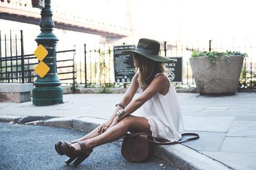
[[131,83],[134,77],[134,59],[131,54],[123,54],[122,51],[135,50],[134,45],[114,46],[114,71],[116,83]]

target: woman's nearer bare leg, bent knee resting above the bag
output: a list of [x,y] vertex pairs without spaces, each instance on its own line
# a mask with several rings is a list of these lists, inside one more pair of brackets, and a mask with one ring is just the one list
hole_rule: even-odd
[[[131,133],[144,132],[150,135],[152,134],[150,131],[150,125],[146,118],[129,115],[119,123],[107,129],[104,133],[96,137],[86,139],[83,142],[85,142],[88,149],[93,149],[101,144],[113,142],[124,137],[128,131]],[[74,143],[72,146],[75,147],[76,151],[80,151],[78,143]]]

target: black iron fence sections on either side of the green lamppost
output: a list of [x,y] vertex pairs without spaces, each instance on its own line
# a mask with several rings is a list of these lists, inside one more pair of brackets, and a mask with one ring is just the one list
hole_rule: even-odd
[[[23,32],[13,34],[9,31],[9,34],[5,32],[2,35],[0,31],[0,40],[0,82],[35,82],[37,75],[34,69],[38,59],[34,54],[24,54]],[[75,48],[56,52],[58,77],[61,83],[71,84],[73,87],[76,84],[75,55]]]

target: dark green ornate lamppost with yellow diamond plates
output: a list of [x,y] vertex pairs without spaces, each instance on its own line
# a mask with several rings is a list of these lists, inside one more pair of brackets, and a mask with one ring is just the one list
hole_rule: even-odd
[[[40,4],[43,3],[43,7]],[[54,22],[52,20],[51,0],[32,0],[33,7],[42,8],[40,27],[41,33],[35,41],[48,52],[46,57],[40,60],[40,63],[46,64],[41,67],[38,64],[38,70],[44,72],[43,76],[38,76],[34,82],[35,88],[32,91],[32,101],[35,106],[48,106],[52,104],[63,103],[63,90],[58,79],[56,66],[56,44],[58,38],[53,34]],[[38,57],[38,56],[37,56]],[[45,57],[45,58],[44,58]],[[39,58],[38,58],[39,59]],[[47,68],[47,71],[45,71]],[[50,68],[50,69],[49,69]]]

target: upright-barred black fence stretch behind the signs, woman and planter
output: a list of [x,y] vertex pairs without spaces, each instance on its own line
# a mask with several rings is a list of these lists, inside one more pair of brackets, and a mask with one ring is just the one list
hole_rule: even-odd
[[[195,87],[189,58],[193,51],[240,51],[247,53],[240,77],[240,88],[256,86],[256,39],[219,39],[205,41],[160,42],[160,54],[183,58],[183,82],[178,87]],[[135,43],[120,43],[135,44]],[[114,83],[113,46],[120,44],[83,44],[76,58],[77,83],[85,87],[118,86]],[[135,44],[136,45],[136,44]],[[83,56],[83,57],[82,57]],[[122,85],[122,84],[121,84]]]

